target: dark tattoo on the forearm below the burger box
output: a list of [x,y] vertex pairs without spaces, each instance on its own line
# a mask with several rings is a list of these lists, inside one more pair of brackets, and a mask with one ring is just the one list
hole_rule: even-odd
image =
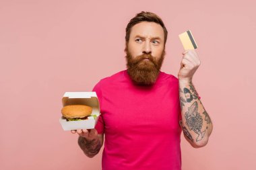
[[78,138],[78,144],[80,148],[82,148],[82,150],[84,151],[84,154],[90,158],[98,154],[101,148],[100,140],[96,140],[96,139],[88,140],[81,136],[79,136]]

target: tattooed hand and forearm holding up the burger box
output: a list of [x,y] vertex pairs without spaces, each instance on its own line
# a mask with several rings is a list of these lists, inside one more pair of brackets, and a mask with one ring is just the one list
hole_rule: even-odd
[[[75,130],[72,131],[72,133],[75,133]],[[96,129],[76,130],[76,132],[79,134],[78,144],[84,154],[90,158],[97,155],[103,144],[103,134],[98,134]]]

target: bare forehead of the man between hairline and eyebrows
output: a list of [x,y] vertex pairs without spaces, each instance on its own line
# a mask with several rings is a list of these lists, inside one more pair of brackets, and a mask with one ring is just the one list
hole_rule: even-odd
[[160,24],[154,22],[141,22],[131,28],[131,37],[164,39],[164,30]]

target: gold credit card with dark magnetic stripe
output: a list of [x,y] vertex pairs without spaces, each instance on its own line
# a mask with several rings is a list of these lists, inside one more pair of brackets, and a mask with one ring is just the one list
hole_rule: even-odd
[[188,30],[187,32],[183,32],[182,34],[179,34],[179,38],[185,50],[197,49],[197,43],[195,42],[195,39],[193,38],[193,35],[190,30]]

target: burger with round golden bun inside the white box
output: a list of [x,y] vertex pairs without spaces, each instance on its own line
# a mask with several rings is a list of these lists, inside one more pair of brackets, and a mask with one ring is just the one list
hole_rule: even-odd
[[92,114],[92,108],[88,105],[66,105],[61,114],[67,121],[86,120]]

